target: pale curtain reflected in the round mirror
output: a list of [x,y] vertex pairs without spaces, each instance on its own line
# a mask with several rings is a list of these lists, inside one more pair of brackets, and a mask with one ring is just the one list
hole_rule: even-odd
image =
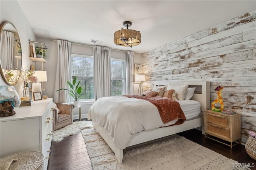
[[[4,69],[14,69],[13,63],[14,33],[3,31],[0,41],[1,64]],[[4,57],[3,57],[4,56]]]

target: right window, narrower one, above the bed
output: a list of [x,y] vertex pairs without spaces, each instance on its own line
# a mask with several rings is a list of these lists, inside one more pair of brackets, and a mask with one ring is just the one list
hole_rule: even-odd
[[125,60],[111,59],[111,96],[124,94]]

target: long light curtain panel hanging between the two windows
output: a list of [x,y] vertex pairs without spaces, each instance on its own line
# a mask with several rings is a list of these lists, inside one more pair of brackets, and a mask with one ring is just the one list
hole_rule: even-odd
[[94,46],[94,99],[110,96],[110,52],[108,47]]

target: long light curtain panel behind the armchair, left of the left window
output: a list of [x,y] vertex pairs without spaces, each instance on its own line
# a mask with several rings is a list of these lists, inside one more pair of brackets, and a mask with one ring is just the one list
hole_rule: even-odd
[[54,87],[54,103],[69,103],[70,95],[68,91],[58,89],[67,88],[69,81],[69,64],[71,58],[71,43],[63,40],[57,40],[57,65],[56,79]]

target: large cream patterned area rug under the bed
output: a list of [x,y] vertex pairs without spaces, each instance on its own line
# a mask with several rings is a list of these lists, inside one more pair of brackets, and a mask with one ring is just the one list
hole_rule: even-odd
[[120,164],[94,128],[81,130],[94,170],[232,170],[238,163],[183,136],[172,136],[124,150]]

